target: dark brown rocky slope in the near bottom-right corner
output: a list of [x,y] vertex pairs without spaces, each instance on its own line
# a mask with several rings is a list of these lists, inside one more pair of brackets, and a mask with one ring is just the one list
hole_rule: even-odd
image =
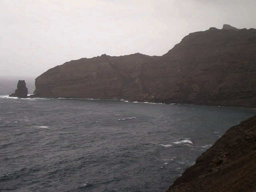
[[230,128],[166,192],[255,192],[256,116]]

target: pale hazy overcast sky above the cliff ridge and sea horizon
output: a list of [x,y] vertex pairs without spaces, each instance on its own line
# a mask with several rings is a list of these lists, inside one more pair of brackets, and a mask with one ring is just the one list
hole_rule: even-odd
[[163,55],[190,32],[256,28],[256,0],[0,0],[0,77],[66,61]]

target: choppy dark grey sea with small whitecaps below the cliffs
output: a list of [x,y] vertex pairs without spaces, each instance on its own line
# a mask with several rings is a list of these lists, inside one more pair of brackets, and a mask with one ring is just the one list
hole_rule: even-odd
[[[0,79],[1,192],[164,192],[255,109],[8,98]],[[29,92],[33,80],[26,80]],[[32,90],[30,90],[30,87]]]

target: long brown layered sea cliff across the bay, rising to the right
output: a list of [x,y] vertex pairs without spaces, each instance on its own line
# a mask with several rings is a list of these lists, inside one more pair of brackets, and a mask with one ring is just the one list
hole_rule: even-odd
[[255,74],[256,30],[210,28],[189,34],[163,56],[66,62],[36,78],[34,94],[256,107]]

